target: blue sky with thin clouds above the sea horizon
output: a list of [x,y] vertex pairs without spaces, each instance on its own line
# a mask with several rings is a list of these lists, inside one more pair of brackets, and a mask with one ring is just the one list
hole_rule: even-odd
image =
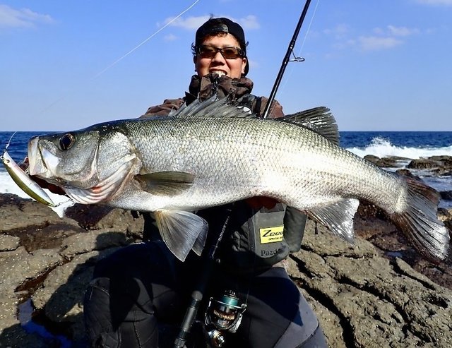
[[[303,6],[0,0],[0,131],[69,131],[182,97],[210,14],[244,27],[254,94],[269,95]],[[329,107],[340,131],[452,131],[451,37],[452,0],[312,0],[295,46],[306,60],[276,99],[286,114]]]

